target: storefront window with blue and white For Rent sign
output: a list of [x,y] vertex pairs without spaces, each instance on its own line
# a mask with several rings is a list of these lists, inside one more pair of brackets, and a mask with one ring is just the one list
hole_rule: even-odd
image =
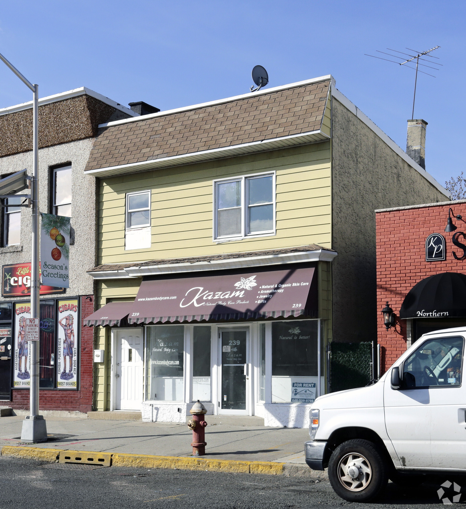
[[315,398],[317,326],[317,320],[272,323],[272,403]]

